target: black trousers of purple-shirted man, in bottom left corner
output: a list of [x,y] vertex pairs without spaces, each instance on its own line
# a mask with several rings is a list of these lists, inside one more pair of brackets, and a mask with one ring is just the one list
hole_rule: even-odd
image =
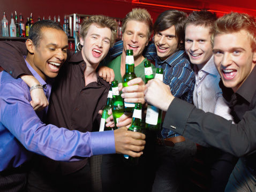
[[1,192],[25,192],[27,183],[27,166],[12,168],[0,172],[0,191]]

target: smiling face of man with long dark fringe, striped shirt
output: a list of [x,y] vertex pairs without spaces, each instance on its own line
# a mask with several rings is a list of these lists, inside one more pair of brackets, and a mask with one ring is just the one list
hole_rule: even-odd
[[175,26],[173,25],[162,32],[156,32],[154,42],[157,56],[159,56],[161,60],[165,60],[174,54],[178,48]]

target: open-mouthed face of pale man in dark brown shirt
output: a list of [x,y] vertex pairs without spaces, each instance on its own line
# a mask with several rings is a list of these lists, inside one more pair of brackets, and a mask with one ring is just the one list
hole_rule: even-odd
[[88,65],[99,65],[110,48],[111,30],[92,24],[84,39],[80,38],[82,57]]

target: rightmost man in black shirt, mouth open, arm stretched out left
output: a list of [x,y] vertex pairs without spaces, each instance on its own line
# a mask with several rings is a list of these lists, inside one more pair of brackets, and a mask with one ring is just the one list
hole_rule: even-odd
[[145,90],[147,102],[167,111],[163,127],[206,147],[242,157],[225,191],[254,191],[256,184],[255,32],[255,18],[243,13],[227,14],[214,26],[214,63],[221,76],[223,97],[230,103],[236,125],[175,98],[160,81],[149,81]]

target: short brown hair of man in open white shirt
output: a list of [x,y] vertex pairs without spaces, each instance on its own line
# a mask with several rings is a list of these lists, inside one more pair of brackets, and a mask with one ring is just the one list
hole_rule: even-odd
[[217,14],[207,10],[193,11],[187,16],[185,30],[187,25],[203,26],[209,28],[212,32],[215,21],[217,20]]

